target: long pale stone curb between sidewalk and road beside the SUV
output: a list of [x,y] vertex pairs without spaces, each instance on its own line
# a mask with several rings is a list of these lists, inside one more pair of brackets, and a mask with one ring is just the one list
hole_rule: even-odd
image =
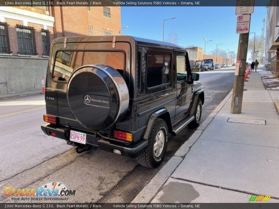
[[232,96],[232,91],[220,102],[220,104],[210,113],[189,139],[181,145],[174,156],[161,168],[161,170],[151,179],[151,181],[140,191],[131,203],[149,203],[158,193],[160,188],[166,183],[171,174],[176,170],[178,165],[183,161],[185,155],[189,152],[194,143],[201,136],[205,128],[210,124],[217,113],[226,104]]

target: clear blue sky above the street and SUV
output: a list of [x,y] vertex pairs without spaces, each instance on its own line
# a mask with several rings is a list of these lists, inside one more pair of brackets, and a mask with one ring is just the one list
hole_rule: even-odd
[[[265,7],[255,7],[251,16],[250,32],[262,35],[266,18]],[[206,44],[206,53],[218,48],[237,52],[239,35],[236,31],[235,7],[121,7],[122,33],[162,41],[162,21],[165,21],[165,40],[170,33],[177,33],[178,45],[204,48],[204,38],[212,40]],[[250,38],[254,34],[250,34]]]

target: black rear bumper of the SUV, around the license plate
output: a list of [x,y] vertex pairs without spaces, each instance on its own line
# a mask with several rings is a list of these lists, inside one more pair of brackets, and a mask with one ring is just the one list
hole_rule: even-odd
[[[67,127],[58,127],[56,125],[46,123],[41,125],[41,129],[48,136],[50,136],[50,132],[54,132],[56,138],[69,140],[70,129]],[[94,136],[94,134],[86,132],[86,144],[99,147],[100,149],[108,152],[113,152],[113,149],[117,149],[121,152],[121,155],[130,158],[135,158],[145,149],[145,147],[148,144],[148,141],[140,140],[137,143],[126,145],[125,143],[114,142],[111,140],[101,138],[100,136]]]

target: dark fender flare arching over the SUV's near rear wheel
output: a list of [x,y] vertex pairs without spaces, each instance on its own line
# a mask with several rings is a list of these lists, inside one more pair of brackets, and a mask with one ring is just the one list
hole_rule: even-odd
[[167,119],[168,121],[166,121],[167,125],[168,125],[168,128],[169,128],[169,132],[171,134],[172,133],[172,125],[171,125],[171,118],[170,118],[170,114],[169,114],[169,110],[167,108],[161,108],[159,110],[156,110],[155,112],[153,112],[149,118],[149,121],[147,123],[147,126],[146,126],[146,130],[145,130],[145,133],[144,133],[144,136],[143,138],[148,140],[149,138],[149,135],[150,135],[150,132],[151,132],[151,129],[153,127],[153,124],[154,124],[154,121],[160,117],[162,114],[165,114],[167,113],[167,115],[169,116],[169,119]]

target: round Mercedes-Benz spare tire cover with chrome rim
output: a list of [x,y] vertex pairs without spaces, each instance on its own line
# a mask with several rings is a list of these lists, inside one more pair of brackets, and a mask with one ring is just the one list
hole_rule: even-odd
[[98,131],[123,118],[128,109],[129,92],[123,77],[114,68],[86,65],[71,75],[67,100],[76,120]]

